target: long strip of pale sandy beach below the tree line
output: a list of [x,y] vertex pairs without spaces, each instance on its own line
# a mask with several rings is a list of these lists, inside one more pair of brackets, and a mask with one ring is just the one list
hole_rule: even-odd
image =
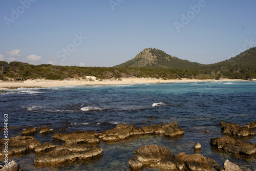
[[104,85],[126,85],[126,84],[141,84],[141,83],[179,83],[179,82],[222,82],[222,81],[256,81],[256,80],[244,80],[244,79],[156,79],[156,78],[121,78],[121,80],[103,80],[103,81],[88,81],[88,80],[45,80],[35,79],[26,80],[22,82],[5,82],[0,81],[0,89],[12,89],[12,88],[31,88],[31,87],[66,87],[66,86],[104,86]]

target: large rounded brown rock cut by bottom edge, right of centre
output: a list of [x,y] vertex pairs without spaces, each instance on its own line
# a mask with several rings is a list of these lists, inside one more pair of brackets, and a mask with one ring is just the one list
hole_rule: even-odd
[[214,159],[201,154],[180,153],[175,156],[169,149],[158,145],[139,147],[129,159],[129,164],[132,170],[140,170],[142,167],[158,167],[164,170],[223,170]]

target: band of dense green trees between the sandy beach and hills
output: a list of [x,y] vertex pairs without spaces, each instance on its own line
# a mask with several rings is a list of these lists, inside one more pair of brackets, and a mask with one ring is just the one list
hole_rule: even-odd
[[0,61],[0,77],[2,80],[27,80],[27,79],[69,79],[86,78],[95,76],[97,79],[118,79],[121,77],[138,78],[195,78],[195,79],[219,79],[237,78],[252,79],[256,78],[256,70],[245,70],[237,66],[220,69],[219,67],[197,67],[187,69],[170,68],[106,68],[106,67],[75,67],[75,66],[53,66],[53,65],[30,65],[24,62]]

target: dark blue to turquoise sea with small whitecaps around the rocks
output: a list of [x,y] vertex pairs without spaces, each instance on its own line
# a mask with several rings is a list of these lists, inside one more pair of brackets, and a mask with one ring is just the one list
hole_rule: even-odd
[[[228,159],[243,170],[256,169],[255,156],[229,154],[210,145],[211,138],[224,136],[256,143],[256,136],[225,135],[220,125],[222,121],[239,125],[256,121],[255,81],[7,89],[7,92],[0,92],[0,107],[2,127],[4,114],[8,114],[9,137],[20,136],[29,126],[49,126],[56,133],[78,130],[101,133],[120,123],[141,127],[177,121],[184,130],[184,135],[178,137],[144,135],[119,142],[100,142],[103,156],[61,167],[34,166],[34,153],[9,157],[24,170],[129,170],[128,160],[140,146],[157,144],[175,155],[181,152],[194,154],[196,142],[202,145],[197,153],[216,160],[222,167]],[[66,132],[61,132],[62,129]],[[209,132],[205,133],[205,130]],[[3,130],[0,134],[4,138]],[[41,143],[57,143],[52,140],[52,135],[37,133],[34,137]],[[3,159],[0,164],[4,164]]]

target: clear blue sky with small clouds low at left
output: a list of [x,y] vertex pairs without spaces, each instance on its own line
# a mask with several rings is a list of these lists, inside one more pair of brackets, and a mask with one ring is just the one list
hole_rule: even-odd
[[256,1],[1,0],[0,60],[112,67],[144,48],[203,64],[256,47]]

